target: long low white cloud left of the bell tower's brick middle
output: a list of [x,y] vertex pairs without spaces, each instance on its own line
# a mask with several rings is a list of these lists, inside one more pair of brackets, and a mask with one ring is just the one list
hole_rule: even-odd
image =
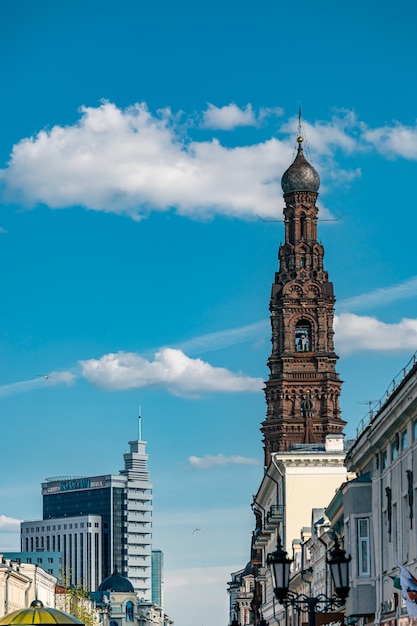
[[260,378],[212,367],[174,348],[161,348],[153,361],[133,352],[118,352],[81,361],[81,367],[90,383],[109,390],[163,386],[176,395],[190,395],[211,391],[257,392],[263,387]]

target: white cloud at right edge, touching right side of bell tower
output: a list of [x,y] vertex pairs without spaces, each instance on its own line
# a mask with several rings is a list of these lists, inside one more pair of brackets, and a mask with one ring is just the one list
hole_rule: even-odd
[[417,350],[417,319],[386,324],[375,317],[342,313],[334,320],[335,343],[340,354],[364,350],[412,352]]

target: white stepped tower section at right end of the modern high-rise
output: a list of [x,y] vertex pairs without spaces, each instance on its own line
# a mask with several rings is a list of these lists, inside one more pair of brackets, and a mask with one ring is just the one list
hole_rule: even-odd
[[129,441],[124,455],[126,476],[126,575],[139,597],[151,600],[152,576],[152,485],[149,482],[146,441]]

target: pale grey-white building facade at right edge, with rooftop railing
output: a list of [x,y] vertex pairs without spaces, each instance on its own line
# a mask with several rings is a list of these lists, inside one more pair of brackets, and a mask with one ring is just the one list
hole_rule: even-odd
[[416,355],[370,411],[346,467],[358,475],[344,488],[345,543],[352,555],[347,615],[358,615],[360,599],[366,621],[405,624],[393,581],[399,564],[417,577]]

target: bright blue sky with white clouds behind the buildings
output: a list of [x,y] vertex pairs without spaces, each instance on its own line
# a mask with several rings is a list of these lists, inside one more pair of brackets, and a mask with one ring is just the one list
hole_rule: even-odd
[[0,549],[45,477],[121,469],[141,405],[166,610],[227,623],[299,106],[348,437],[417,350],[416,12],[2,3]]

